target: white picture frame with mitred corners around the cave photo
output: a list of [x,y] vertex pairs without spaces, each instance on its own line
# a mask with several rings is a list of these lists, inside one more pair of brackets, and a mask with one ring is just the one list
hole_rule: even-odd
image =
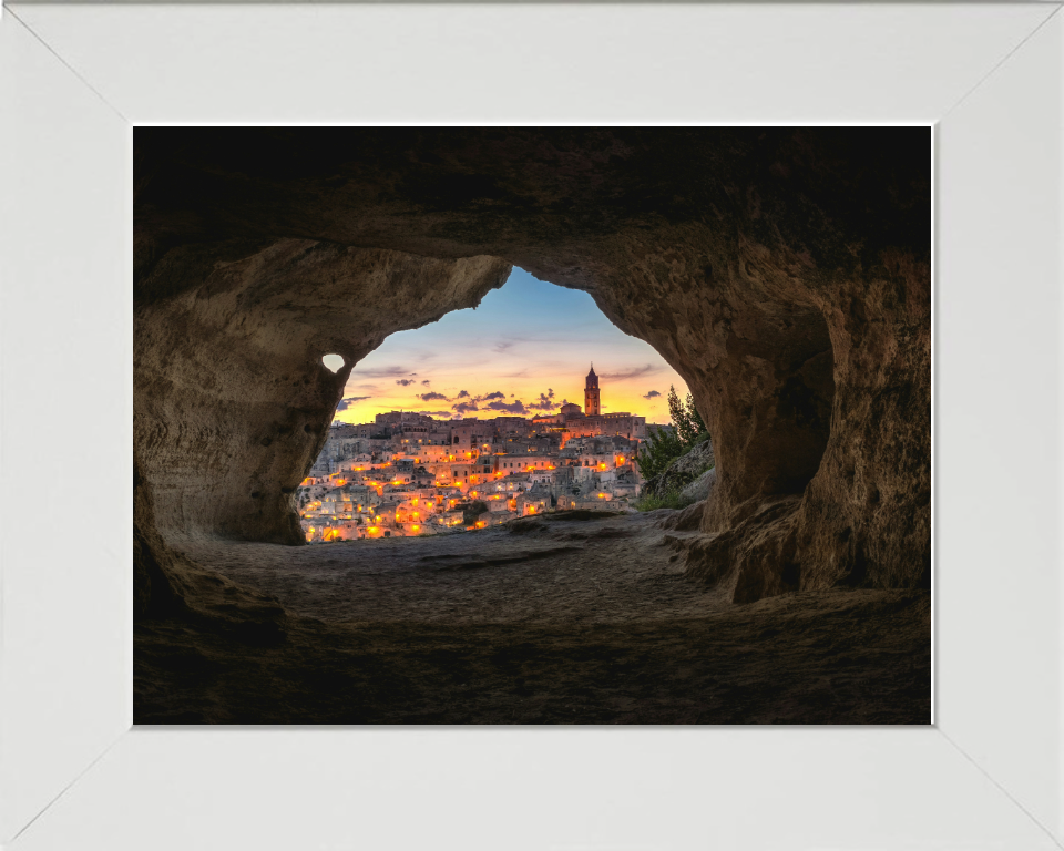
[[[0,843],[1064,848],[1060,11],[9,3]],[[132,728],[131,127],[511,121],[935,127],[932,727]]]

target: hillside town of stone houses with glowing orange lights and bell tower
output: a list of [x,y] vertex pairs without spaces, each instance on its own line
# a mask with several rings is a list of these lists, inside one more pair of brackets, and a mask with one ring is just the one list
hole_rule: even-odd
[[594,365],[584,408],[437,420],[391,411],[335,422],[296,491],[310,543],[473,532],[549,511],[624,511],[641,491],[645,417],[602,413]]

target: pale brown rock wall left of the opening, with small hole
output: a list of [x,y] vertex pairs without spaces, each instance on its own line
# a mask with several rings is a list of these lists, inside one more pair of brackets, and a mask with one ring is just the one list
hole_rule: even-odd
[[[154,525],[171,540],[304,543],[291,496],[354,365],[510,274],[494,257],[306,239],[249,248],[174,248],[144,281],[168,295],[136,312],[134,445]],[[321,362],[329,353],[345,360],[336,373]]]

